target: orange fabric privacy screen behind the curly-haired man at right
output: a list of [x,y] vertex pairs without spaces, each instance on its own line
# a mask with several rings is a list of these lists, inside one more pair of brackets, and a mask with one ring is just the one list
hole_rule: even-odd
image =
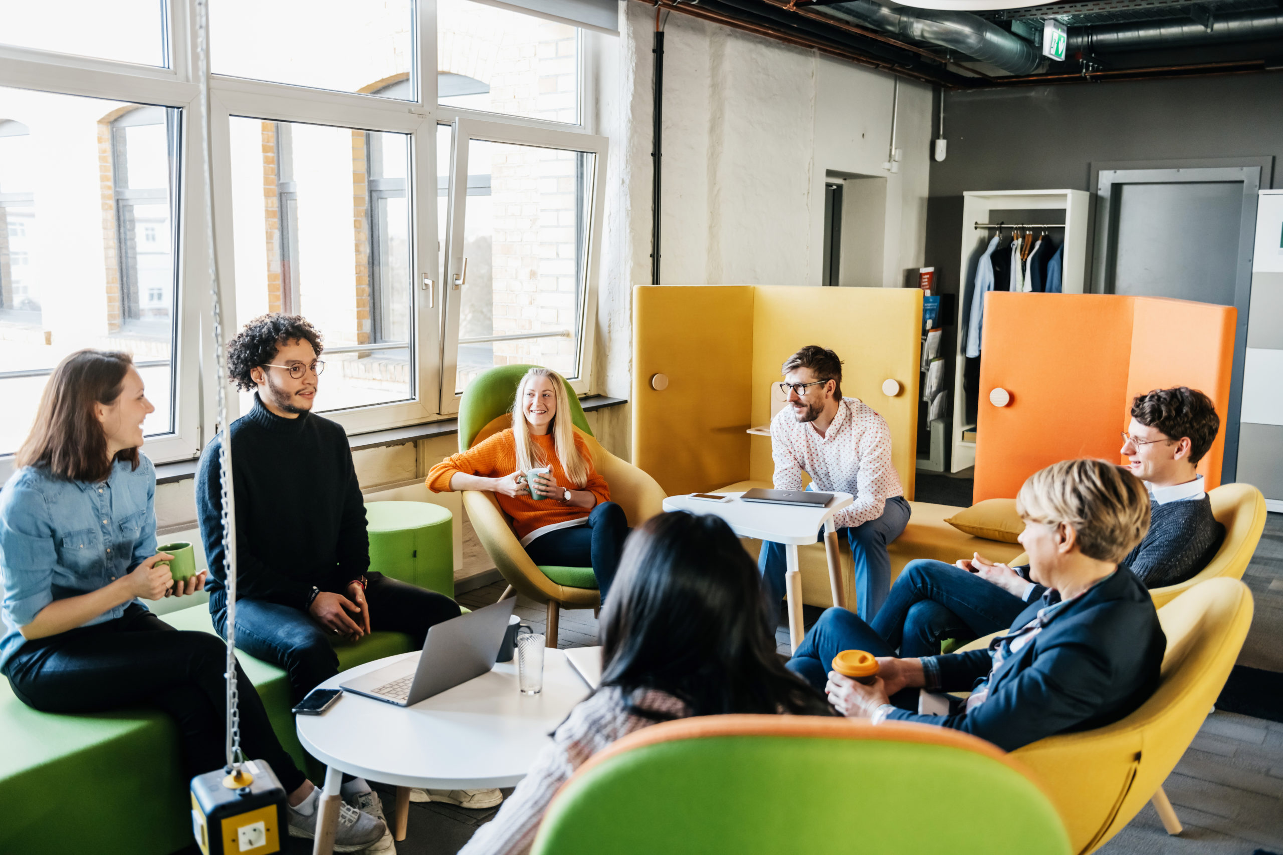
[[[974,501],[1010,499],[1030,474],[1069,458],[1121,460],[1132,399],[1189,386],[1211,397],[1221,432],[1198,470],[1220,485],[1232,306],[1101,294],[985,299]],[[990,392],[1010,401],[998,406]]]

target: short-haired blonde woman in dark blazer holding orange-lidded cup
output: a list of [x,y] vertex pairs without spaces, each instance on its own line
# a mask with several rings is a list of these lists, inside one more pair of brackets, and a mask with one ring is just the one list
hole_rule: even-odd
[[[1159,685],[1166,649],[1150,592],[1119,564],[1150,527],[1144,485],[1103,460],[1064,460],[1029,477],[1016,510],[1030,578],[1048,590],[988,650],[897,659],[869,624],[829,609],[789,668],[844,715],[955,728],[1007,751],[1130,714]],[[878,656],[872,686],[828,673],[848,649]],[[971,695],[942,695],[947,713],[922,715],[920,688]]]

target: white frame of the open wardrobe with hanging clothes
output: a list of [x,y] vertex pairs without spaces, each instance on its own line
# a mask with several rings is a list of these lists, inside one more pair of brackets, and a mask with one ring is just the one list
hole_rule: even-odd
[[[976,223],[996,223],[999,219],[1011,226],[1019,226],[1011,217],[997,215],[994,219],[989,212],[1010,210],[1047,210],[1064,212],[1065,215],[1065,242],[1064,242],[1064,268],[1061,273],[1062,294],[1082,294],[1087,274],[1087,235],[1088,218],[1091,213],[1092,195],[1085,190],[999,190],[999,191],[970,191],[962,194],[962,258],[958,263],[958,335],[957,353],[953,363],[953,454],[949,459],[949,469],[961,472],[975,465],[975,442],[962,438],[967,431],[975,431],[975,424],[967,423],[967,390],[962,388],[962,369],[965,349],[962,346],[962,301],[969,296],[967,261],[971,253],[981,237],[993,237],[993,229],[978,229]],[[1034,220],[1025,218],[1024,222],[1038,223],[1047,220]],[[983,358],[983,355],[981,355]]]

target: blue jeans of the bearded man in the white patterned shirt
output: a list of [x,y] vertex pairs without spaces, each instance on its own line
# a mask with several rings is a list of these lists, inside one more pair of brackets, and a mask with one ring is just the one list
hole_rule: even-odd
[[[810,490],[810,487],[807,487]],[[903,496],[887,500],[883,515],[853,528],[839,528],[838,536],[845,536],[851,544],[851,558],[856,561],[856,609],[865,620],[872,620],[890,590],[890,555],[887,545],[899,537],[908,524],[908,502]],[[816,541],[824,540],[824,531]],[[762,573],[762,585],[774,608],[779,609],[784,599],[784,546],[767,541],[757,556],[757,569]],[[776,617],[779,611],[775,613]]]

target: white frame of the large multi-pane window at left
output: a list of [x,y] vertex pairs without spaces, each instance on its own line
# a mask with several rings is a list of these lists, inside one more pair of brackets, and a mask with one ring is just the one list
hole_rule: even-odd
[[[144,450],[155,463],[191,459],[218,429],[217,386],[227,388],[228,418],[240,415],[239,397],[226,378],[218,377],[209,329],[212,310],[205,259],[205,183],[201,169],[199,87],[196,72],[196,3],[166,0],[169,68],[157,68],[55,51],[0,45],[0,86],[45,92],[101,97],[119,103],[180,108],[181,174],[178,194],[180,245],[178,285],[174,295],[177,318],[174,368],[174,431],[151,437]],[[589,97],[593,81],[585,73],[591,38],[580,31],[580,122],[568,124],[512,117],[436,104],[436,0],[414,4],[416,101],[375,95],[337,92],[237,77],[210,74],[210,154],[213,158],[213,205],[216,258],[221,279],[223,338],[236,332],[235,245],[231,206],[232,115],[263,120],[326,124],[362,131],[405,133],[411,137],[411,235],[413,236],[412,279],[414,386],[412,400],[326,411],[326,418],[348,433],[364,433],[450,418],[458,409],[454,365],[445,364],[445,338],[457,326],[446,324],[449,300],[438,259],[436,224],[436,128],[439,123],[482,129],[484,138],[520,145],[552,146],[595,154],[590,209],[588,276],[581,295],[579,331],[580,377],[571,381],[579,394],[593,390],[593,347],[597,327],[597,282],[606,196],[606,137],[589,133]],[[210,46],[217,53],[217,45]],[[452,186],[453,192],[453,186]],[[446,279],[452,270],[446,269]],[[431,281],[430,288],[423,287]],[[417,287],[416,287],[417,286]],[[455,311],[457,318],[457,311]],[[210,378],[217,378],[210,382]],[[444,394],[448,390],[450,394]],[[13,469],[13,456],[0,456],[0,478]]]

